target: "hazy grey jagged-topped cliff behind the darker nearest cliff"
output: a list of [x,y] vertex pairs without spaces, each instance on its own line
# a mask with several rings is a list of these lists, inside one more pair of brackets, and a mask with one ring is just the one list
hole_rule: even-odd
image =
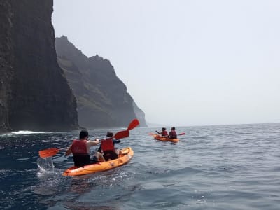
[[109,60],[86,57],[65,36],[56,38],[55,48],[59,66],[77,98],[81,126],[126,127],[136,118],[133,99]]

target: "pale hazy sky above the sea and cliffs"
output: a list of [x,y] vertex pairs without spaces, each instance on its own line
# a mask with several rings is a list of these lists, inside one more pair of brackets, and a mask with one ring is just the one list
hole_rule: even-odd
[[55,36],[109,59],[148,123],[280,123],[280,1],[54,0]]

